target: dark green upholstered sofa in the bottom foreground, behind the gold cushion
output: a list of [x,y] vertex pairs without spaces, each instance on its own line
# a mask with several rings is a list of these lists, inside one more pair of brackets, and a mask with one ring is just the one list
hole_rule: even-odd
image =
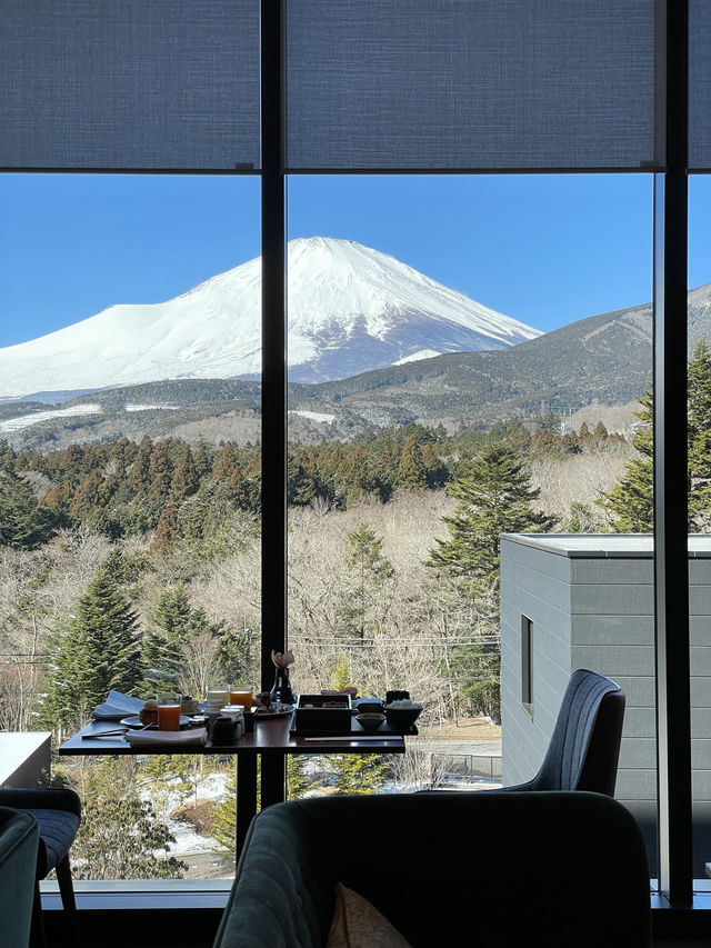
[[413,948],[650,942],[637,824],[588,792],[330,797],[252,824],[214,948],[322,948],[338,881]]

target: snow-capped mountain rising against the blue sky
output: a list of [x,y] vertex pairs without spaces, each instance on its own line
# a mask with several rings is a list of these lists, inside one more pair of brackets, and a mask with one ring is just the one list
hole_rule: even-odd
[[[0,349],[0,397],[184,378],[256,376],[261,260],[162,303],[118,305]],[[350,240],[289,243],[289,366],[294,381],[344,378],[443,352],[503,349],[540,336]]]

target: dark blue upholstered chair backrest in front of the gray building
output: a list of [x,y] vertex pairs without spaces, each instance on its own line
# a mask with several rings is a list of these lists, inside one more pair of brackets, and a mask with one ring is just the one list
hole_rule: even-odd
[[568,682],[534,790],[614,795],[624,718],[624,692],[610,678],[574,671]]

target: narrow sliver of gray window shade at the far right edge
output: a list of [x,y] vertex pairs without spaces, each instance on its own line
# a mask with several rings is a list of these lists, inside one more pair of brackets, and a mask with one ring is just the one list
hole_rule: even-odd
[[689,167],[711,170],[711,2],[689,3]]

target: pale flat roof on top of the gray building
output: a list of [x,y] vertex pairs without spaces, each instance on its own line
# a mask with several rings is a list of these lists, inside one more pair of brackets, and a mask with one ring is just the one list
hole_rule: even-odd
[[[651,559],[651,533],[502,533],[502,540],[575,559]],[[711,558],[711,533],[689,535],[689,557]]]

